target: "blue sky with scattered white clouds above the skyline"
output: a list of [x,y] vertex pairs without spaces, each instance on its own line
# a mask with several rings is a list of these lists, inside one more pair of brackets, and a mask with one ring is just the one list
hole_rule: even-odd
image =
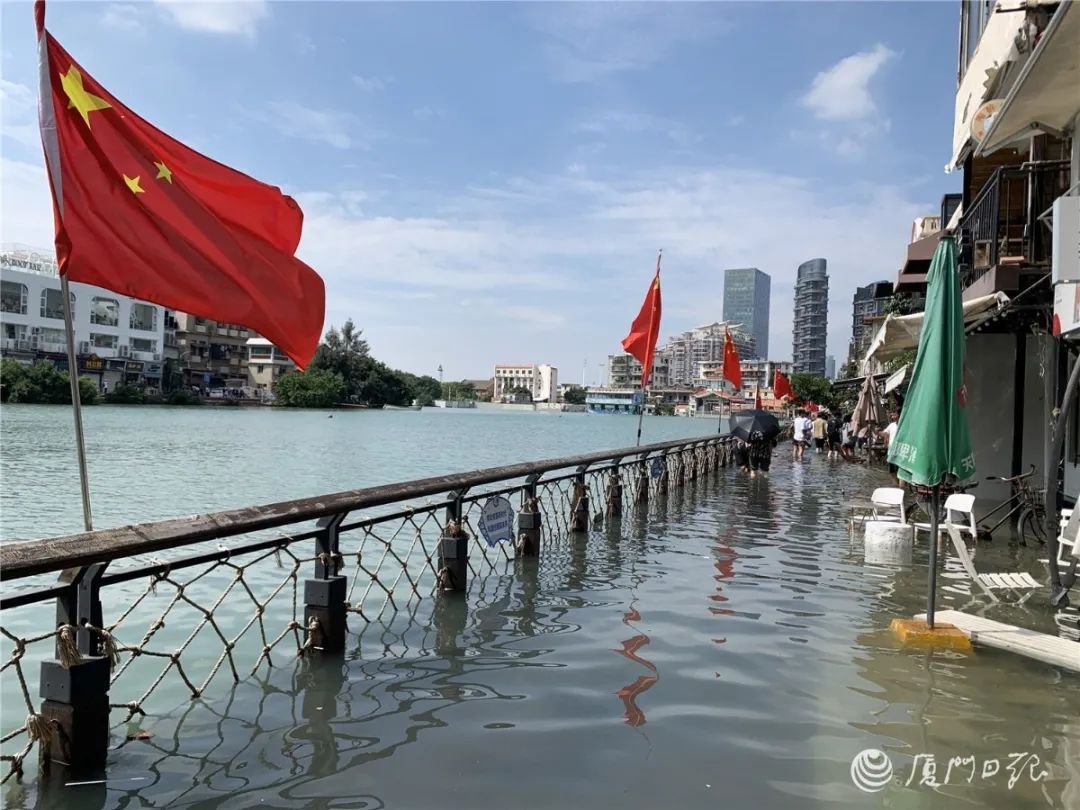
[[[0,239],[50,245],[29,3],[2,16]],[[393,365],[599,378],[664,248],[661,337],[719,320],[725,267],[894,279],[948,159],[959,8],[940,2],[52,2],[85,70],[305,211],[300,256]]]

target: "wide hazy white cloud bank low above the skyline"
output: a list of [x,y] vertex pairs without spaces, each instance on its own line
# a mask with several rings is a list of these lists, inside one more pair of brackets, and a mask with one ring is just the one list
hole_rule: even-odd
[[[0,240],[52,243],[39,165],[2,164]],[[616,351],[664,248],[666,337],[720,316],[721,270],[772,276],[773,356],[791,352],[797,266],[828,259],[829,352],[850,336],[854,287],[890,278],[905,221],[926,192],[724,164],[494,177],[486,188],[429,193],[413,216],[378,187],[294,192],[305,212],[299,255],[326,280],[327,322],[353,316],[380,359],[448,377],[535,357],[564,372]],[[468,299],[467,307],[461,300]],[[572,327],[571,327],[572,325]]]

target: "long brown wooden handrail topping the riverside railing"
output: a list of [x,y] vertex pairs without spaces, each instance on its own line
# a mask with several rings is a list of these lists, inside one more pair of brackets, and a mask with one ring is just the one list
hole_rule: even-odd
[[654,453],[701,446],[726,436],[683,438],[673,442],[599,450],[578,456],[526,461],[507,467],[491,467],[453,475],[436,475],[399,484],[349,489],[342,492],[268,503],[261,507],[211,512],[173,517],[153,523],[140,523],[111,529],[96,529],[78,535],[10,542],[0,545],[0,581],[32,577],[39,573],[80,568],[93,563],[106,563],[150,554],[165,549],[235,537],[251,531],[276,528],[301,521],[372,509],[414,498],[427,498],[444,492],[465,491],[499,481],[542,475],[554,470],[579,468],[602,461],[644,458]]

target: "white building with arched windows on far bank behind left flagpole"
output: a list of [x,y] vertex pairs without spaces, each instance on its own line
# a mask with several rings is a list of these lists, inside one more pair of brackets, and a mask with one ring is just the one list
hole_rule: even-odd
[[[80,376],[110,387],[160,387],[164,308],[78,282],[70,287]],[[64,298],[52,257],[21,245],[0,249],[0,326],[5,356],[67,368]]]

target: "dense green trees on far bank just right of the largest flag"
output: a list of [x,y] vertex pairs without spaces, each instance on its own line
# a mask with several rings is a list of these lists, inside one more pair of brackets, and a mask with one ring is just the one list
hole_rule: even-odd
[[[454,383],[455,396],[475,397],[468,383]],[[340,329],[333,326],[315,350],[315,356],[302,372],[289,372],[274,386],[279,405],[300,408],[325,408],[342,404],[431,405],[443,397],[442,384],[434,377],[417,376],[372,356],[362,333],[348,320]]]

